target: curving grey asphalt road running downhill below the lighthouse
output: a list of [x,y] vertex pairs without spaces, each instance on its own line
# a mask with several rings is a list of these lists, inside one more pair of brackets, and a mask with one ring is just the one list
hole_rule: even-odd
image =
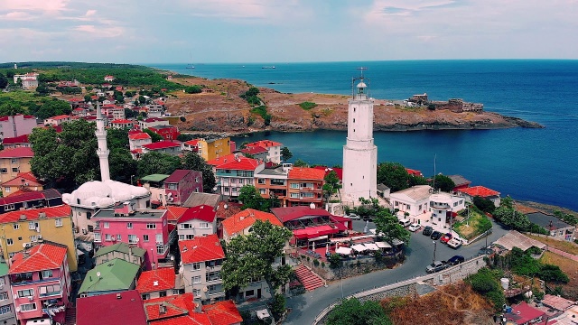
[[[363,230],[364,221],[354,221],[353,228]],[[375,228],[369,223],[368,228]],[[493,232],[488,237],[489,243],[497,240],[508,232],[507,229],[493,224]],[[466,259],[478,255],[481,247],[485,246],[485,240],[473,243],[469,246],[461,246],[454,250],[439,240],[435,245],[435,259],[447,260],[453,255],[462,255]],[[343,279],[342,282],[336,281],[328,283],[328,287],[321,287],[313,292],[305,292],[302,295],[290,297],[287,299],[287,307],[292,309],[285,324],[311,324],[319,313],[332,302],[336,302],[341,297],[347,297],[353,293],[373,289],[388,283],[396,283],[410,278],[425,274],[425,267],[432,263],[433,260],[433,241],[429,236],[422,235],[421,231],[412,234],[410,244],[406,248],[406,262],[397,266],[395,269],[382,270],[370,274],[363,274],[356,277]]]

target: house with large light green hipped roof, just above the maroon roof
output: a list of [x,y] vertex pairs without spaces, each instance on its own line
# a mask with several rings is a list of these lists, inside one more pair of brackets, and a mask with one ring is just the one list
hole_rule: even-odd
[[136,287],[136,278],[140,271],[139,265],[120,258],[96,265],[84,277],[79,288],[79,297],[133,290]]

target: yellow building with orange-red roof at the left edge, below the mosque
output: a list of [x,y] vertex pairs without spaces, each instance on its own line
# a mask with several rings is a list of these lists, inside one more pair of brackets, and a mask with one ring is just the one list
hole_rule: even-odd
[[0,215],[0,246],[6,261],[22,251],[24,246],[33,246],[39,240],[67,246],[70,271],[77,270],[78,256],[70,206],[23,209]]

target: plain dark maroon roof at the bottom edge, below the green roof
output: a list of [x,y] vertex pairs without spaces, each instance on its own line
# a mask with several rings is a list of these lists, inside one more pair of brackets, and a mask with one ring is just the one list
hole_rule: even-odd
[[77,325],[146,324],[143,300],[136,290],[79,298],[76,303]]

